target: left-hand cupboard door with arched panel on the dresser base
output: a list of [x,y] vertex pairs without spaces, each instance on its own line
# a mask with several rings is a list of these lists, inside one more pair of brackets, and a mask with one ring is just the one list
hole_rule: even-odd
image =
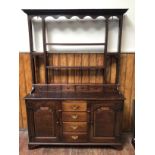
[[27,103],[30,141],[51,142],[59,137],[58,104],[51,101],[31,101]]

